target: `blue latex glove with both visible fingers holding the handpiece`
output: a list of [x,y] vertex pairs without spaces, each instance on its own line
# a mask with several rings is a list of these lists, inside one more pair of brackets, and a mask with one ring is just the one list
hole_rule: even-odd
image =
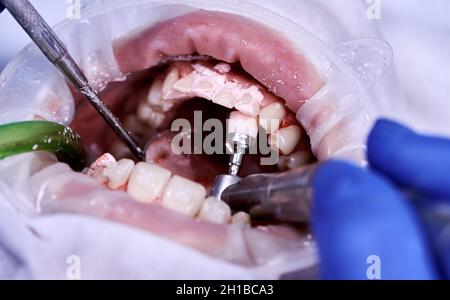
[[438,266],[421,215],[397,186],[423,192],[427,201],[450,199],[450,140],[381,120],[369,137],[368,160],[369,170],[336,161],[314,177],[322,278],[373,279],[377,271],[381,279],[445,277],[450,251],[438,253]]

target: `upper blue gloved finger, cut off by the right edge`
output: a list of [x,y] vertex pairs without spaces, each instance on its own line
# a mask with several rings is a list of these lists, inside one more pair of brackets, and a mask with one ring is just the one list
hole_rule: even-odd
[[403,185],[450,197],[450,140],[380,120],[369,136],[368,160],[374,169]]

